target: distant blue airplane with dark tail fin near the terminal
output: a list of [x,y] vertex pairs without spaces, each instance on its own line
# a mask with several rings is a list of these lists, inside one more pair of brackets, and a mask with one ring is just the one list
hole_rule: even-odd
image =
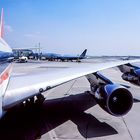
[[61,55],[56,53],[44,53],[41,55],[41,59],[47,59],[50,61],[60,60],[60,61],[77,61],[80,62],[81,59],[86,58],[87,49],[85,49],[80,56],[74,55]]

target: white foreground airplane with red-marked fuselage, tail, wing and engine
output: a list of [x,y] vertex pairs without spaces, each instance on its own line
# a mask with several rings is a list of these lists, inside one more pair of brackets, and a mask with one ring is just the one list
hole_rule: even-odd
[[[139,62],[140,60],[126,60],[92,64],[84,68],[68,68],[59,72],[22,75],[10,77],[12,64],[7,60],[12,55],[12,50],[3,39],[3,9],[0,24],[0,117],[14,105],[29,101],[34,103],[34,97],[38,102],[43,102],[43,93],[63,83],[86,76],[90,83],[91,93],[102,109],[113,116],[122,116],[132,107],[133,97],[124,86],[113,83],[98,71],[107,68]],[[4,61],[3,61],[4,60]],[[134,68],[135,70],[135,68]],[[140,74],[136,77],[139,79]],[[10,79],[9,79],[10,78]]]

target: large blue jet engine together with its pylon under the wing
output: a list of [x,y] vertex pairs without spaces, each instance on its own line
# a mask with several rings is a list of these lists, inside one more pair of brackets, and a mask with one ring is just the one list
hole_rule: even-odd
[[114,84],[112,81],[94,73],[87,75],[91,93],[102,109],[113,116],[122,116],[128,113],[133,105],[133,97],[125,87]]

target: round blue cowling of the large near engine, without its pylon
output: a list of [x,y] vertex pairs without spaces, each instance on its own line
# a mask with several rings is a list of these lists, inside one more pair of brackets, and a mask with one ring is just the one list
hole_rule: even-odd
[[133,97],[130,91],[116,84],[97,88],[94,96],[101,108],[113,116],[125,115],[133,105]]

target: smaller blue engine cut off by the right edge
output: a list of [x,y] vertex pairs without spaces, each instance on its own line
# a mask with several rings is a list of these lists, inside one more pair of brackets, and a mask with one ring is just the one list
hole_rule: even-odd
[[122,79],[140,86],[140,69],[134,69],[132,72],[123,73]]

